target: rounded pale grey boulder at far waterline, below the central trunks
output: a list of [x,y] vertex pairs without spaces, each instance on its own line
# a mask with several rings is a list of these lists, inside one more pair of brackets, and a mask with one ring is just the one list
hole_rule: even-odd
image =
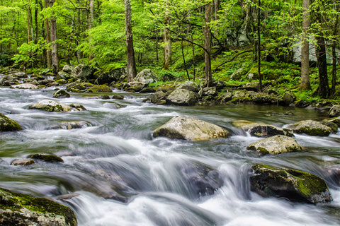
[[174,92],[172,92],[166,100],[166,104],[168,105],[192,106],[195,105],[196,102],[198,102],[197,93],[183,89],[174,90]]

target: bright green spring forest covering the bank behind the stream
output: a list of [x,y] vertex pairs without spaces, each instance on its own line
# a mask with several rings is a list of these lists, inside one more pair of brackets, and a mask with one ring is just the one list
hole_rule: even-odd
[[86,64],[127,67],[131,81],[152,69],[153,85],[258,81],[307,102],[339,99],[337,0],[1,0],[0,14],[3,72]]

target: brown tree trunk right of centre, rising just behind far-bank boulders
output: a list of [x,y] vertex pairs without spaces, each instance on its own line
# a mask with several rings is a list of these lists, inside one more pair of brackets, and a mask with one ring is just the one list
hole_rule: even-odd
[[209,87],[212,82],[211,73],[211,37],[210,37],[210,27],[209,23],[211,20],[212,7],[211,3],[205,6],[204,14],[204,71],[205,71],[205,81],[204,85]]

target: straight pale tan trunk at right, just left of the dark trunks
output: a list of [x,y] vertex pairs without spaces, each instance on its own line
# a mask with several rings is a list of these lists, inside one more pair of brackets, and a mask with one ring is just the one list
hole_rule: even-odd
[[310,0],[302,2],[302,42],[301,42],[301,85],[302,90],[310,90],[310,47],[308,28],[310,28]]

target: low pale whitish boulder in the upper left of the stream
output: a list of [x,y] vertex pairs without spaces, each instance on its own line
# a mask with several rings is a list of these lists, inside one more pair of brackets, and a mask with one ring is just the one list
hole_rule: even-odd
[[[55,100],[40,100],[33,105],[30,105],[30,109],[40,109],[47,112],[69,112],[71,110],[79,111],[82,109],[78,105],[67,105],[62,102],[57,102]],[[84,107],[83,107],[84,108]],[[85,109],[85,108],[84,108]]]

